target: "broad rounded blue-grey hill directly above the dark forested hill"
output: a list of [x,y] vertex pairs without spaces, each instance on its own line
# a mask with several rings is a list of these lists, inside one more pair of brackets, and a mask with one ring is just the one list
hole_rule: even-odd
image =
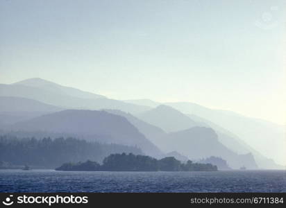
[[160,150],[122,116],[96,110],[64,110],[15,123],[11,130],[63,133],[108,144],[137,146],[147,155]]

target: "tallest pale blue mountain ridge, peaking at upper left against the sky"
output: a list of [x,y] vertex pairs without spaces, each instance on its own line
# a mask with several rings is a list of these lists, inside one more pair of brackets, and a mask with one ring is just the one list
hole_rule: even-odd
[[140,113],[150,109],[146,106],[105,98],[71,87],[63,87],[38,78],[24,80],[12,85],[0,84],[0,96],[30,98],[66,109],[101,110],[110,108],[132,113]]

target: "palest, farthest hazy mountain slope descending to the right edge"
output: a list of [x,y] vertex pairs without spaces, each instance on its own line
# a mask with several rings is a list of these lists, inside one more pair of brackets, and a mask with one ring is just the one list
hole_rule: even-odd
[[[140,101],[131,102],[140,104]],[[143,103],[151,102],[144,101]],[[197,123],[196,125],[214,128],[219,135],[219,140],[237,153],[255,153],[260,167],[283,168],[275,164],[274,160],[279,164],[286,164],[286,128],[284,125],[253,119],[235,112],[212,110],[194,103],[157,104],[157,106],[164,104],[173,107],[189,116]],[[153,101],[149,107],[154,105]]]

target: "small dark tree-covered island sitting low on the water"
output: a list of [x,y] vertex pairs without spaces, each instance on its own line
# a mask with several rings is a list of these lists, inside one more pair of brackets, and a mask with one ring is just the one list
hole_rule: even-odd
[[103,159],[103,164],[92,162],[65,163],[56,171],[217,171],[212,164],[181,163],[175,157],[155,159],[145,155],[112,154]]

